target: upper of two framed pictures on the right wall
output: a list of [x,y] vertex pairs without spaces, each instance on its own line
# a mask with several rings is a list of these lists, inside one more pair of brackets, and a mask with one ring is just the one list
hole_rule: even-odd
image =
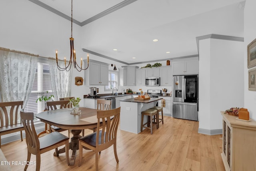
[[247,46],[247,68],[256,66],[256,39]]

